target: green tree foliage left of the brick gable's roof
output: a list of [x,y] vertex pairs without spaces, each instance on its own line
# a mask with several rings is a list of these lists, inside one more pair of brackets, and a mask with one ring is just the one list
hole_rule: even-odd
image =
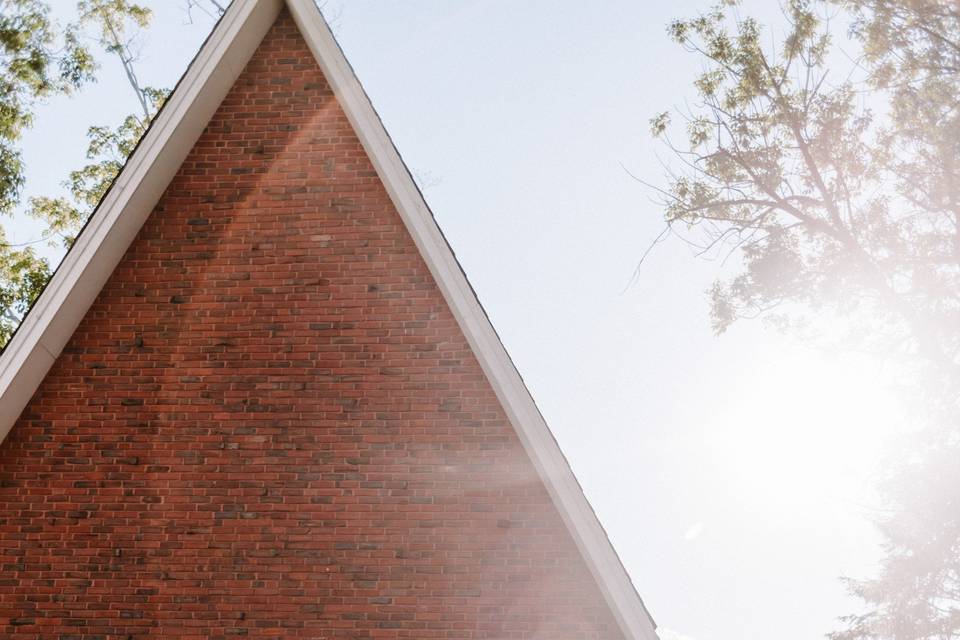
[[[2,2],[0,8],[6,10],[6,5],[11,2]],[[14,76],[21,78],[17,91],[5,94],[13,96],[7,101],[12,107],[0,104],[0,114],[14,114],[8,129],[0,126],[0,145],[3,140],[19,140],[31,124],[32,112],[28,107],[37,99],[69,92],[92,78],[93,56],[77,44],[81,34],[120,62],[139,107],[137,113],[125,117],[117,127],[89,128],[88,163],[70,172],[64,182],[66,196],[37,196],[25,203],[25,212],[44,223],[44,239],[59,239],[69,248],[166,99],[166,90],[142,85],[136,73],[137,39],[149,26],[151,12],[148,7],[127,0],[80,0],[77,24],[58,32],[57,25],[48,18],[46,3],[15,0],[12,6],[19,13],[3,13],[2,33],[4,42],[18,44],[8,46],[9,61],[4,59],[3,64],[7,69],[25,70]],[[58,38],[65,43],[62,51],[53,48],[52,43]],[[8,130],[11,133],[5,135]],[[22,184],[19,155],[6,153],[0,146],[0,211],[11,213],[20,204]],[[3,185],[10,186],[4,189]],[[50,265],[32,247],[0,246],[0,345],[12,335],[50,273]]]

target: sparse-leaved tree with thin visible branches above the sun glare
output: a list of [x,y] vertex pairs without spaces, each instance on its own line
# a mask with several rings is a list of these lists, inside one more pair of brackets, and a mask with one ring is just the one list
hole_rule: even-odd
[[[744,264],[712,291],[714,327],[783,305],[830,307],[871,317],[871,337],[888,349],[955,368],[960,199],[937,175],[949,165],[927,154],[956,154],[957,128],[933,140],[937,127],[915,108],[878,122],[862,87],[827,82],[830,34],[813,7],[787,10],[792,29],[777,51],[754,20],[731,27],[722,8],[671,26],[710,66],[695,83],[703,108],[673,147],[687,170],[664,192],[667,221]],[[949,111],[943,101],[924,108]],[[663,132],[666,116],[653,125]]]

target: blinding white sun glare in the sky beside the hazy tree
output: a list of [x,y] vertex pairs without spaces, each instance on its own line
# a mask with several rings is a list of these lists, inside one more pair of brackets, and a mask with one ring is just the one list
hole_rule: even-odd
[[708,430],[722,476],[765,509],[870,501],[869,486],[903,408],[865,359],[795,350],[744,374],[749,401],[730,398]]

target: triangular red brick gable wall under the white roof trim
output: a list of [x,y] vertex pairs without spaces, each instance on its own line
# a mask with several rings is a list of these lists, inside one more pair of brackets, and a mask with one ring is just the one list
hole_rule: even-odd
[[620,638],[289,18],[0,446],[0,632]]

